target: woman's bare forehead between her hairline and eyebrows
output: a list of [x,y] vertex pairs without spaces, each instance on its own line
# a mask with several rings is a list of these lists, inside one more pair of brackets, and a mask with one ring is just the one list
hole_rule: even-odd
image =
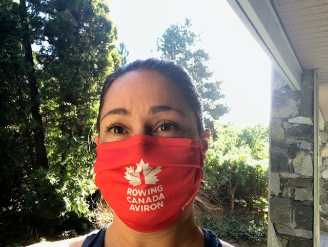
[[191,110],[179,88],[165,76],[149,70],[131,71],[109,87],[104,107],[168,105]]

